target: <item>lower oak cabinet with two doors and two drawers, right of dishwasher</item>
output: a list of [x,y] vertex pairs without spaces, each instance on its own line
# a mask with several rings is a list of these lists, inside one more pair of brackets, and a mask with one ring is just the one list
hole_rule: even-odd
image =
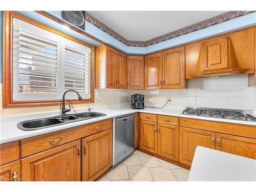
[[[166,120],[159,123],[158,117]],[[169,118],[168,118],[169,117]],[[176,118],[140,113],[140,148],[170,160],[179,161],[179,126]]]

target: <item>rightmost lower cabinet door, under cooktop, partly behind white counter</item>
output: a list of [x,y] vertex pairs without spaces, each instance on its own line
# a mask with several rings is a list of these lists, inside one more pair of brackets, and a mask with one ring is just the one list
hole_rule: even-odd
[[256,159],[256,139],[217,133],[216,149],[222,152]]

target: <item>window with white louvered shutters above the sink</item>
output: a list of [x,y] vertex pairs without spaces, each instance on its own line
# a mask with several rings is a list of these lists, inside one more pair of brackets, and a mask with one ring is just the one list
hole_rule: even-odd
[[[12,77],[11,82],[6,79],[3,86],[12,93],[9,102],[4,96],[4,106],[59,104],[63,93],[69,89],[78,91],[84,101],[93,101],[92,46],[25,20],[13,17],[12,25],[6,26],[12,28],[12,43],[9,43],[12,50],[9,75]],[[8,39],[5,40],[8,44]],[[5,54],[8,57],[8,53]],[[8,88],[8,83],[12,89]],[[70,92],[66,98],[77,100],[77,95]]]

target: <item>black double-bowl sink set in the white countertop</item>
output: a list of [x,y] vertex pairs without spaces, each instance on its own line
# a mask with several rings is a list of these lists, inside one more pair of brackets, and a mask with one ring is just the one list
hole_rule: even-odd
[[104,113],[97,112],[85,112],[85,113],[76,113],[72,115],[60,115],[55,117],[34,119],[18,122],[17,127],[20,130],[29,131],[29,130],[39,130],[51,126],[71,123],[75,121],[81,121],[86,119],[92,119],[95,117],[105,116]]

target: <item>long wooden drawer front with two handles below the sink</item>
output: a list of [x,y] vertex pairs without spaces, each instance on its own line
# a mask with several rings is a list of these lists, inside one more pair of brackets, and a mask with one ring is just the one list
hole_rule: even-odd
[[48,150],[49,148],[108,130],[111,129],[111,127],[112,119],[106,119],[66,130],[23,139],[20,140],[21,157],[24,158]]

